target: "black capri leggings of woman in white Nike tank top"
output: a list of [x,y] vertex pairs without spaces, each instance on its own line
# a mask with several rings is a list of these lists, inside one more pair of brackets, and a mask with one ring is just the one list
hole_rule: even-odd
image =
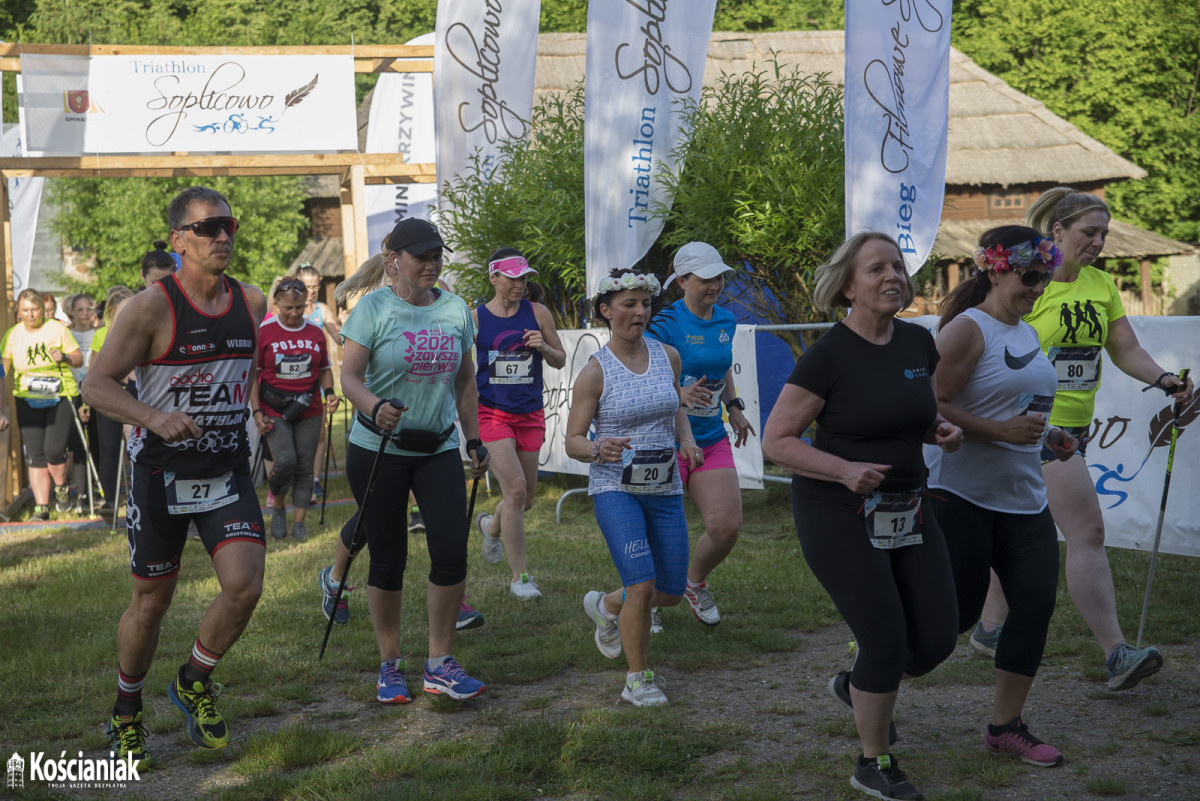
[[992,512],[946,489],[934,492],[934,514],[946,534],[958,588],[959,632],[979,620],[989,568],[995,570],[1009,608],[996,668],[1037,675],[1058,590],[1058,535],[1050,508],[1036,514]]

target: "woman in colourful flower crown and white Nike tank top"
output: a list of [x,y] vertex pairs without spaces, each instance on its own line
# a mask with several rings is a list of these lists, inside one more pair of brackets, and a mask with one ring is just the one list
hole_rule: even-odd
[[979,237],[974,263],[974,276],[942,302],[937,410],[965,441],[955,453],[925,447],[930,496],[954,567],[959,631],[979,619],[991,570],[1016,613],[996,649],[984,746],[1050,767],[1062,753],[1021,719],[1058,588],[1058,537],[1042,463],[1069,459],[1078,441],[1046,423],[1055,369],[1021,317],[1045,291],[1062,253],[1032,228],[1002,225]]

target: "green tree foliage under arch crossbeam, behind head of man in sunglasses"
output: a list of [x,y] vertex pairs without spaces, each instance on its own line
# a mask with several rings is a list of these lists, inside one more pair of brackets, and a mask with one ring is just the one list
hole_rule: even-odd
[[167,204],[179,189],[203,183],[229,198],[238,230],[229,275],[269,287],[302,246],[305,194],[290,177],[60,179],[47,182],[58,207],[55,231],[94,259],[88,283],[74,289],[142,285],[142,257],[166,240]]

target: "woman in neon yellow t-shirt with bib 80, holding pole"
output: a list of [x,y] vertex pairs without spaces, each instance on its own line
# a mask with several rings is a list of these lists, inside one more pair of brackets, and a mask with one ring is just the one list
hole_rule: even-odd
[[[1192,402],[1192,379],[1166,372],[1138,342],[1126,318],[1112,277],[1092,266],[1104,248],[1111,215],[1104,200],[1069,187],[1043,193],[1026,222],[1062,251],[1062,266],[1025,315],[1055,367],[1057,393],[1050,423],[1080,440],[1079,457],[1044,460],[1050,513],[1067,541],[1067,589],[1075,608],[1104,650],[1109,689],[1127,689],[1163,666],[1157,648],[1129,645],[1117,620],[1116,591],[1104,552],[1104,518],[1085,462],[1096,392],[1100,386],[1100,349],[1121,372],[1165,390],[1175,403]],[[1009,598],[1012,602],[1012,598]],[[995,579],[971,645],[991,652],[1007,615]]]

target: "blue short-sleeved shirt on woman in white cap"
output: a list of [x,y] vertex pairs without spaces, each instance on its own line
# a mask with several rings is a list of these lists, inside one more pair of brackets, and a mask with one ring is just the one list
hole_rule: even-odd
[[646,333],[679,351],[683,369],[679,386],[690,386],[704,379],[713,391],[713,403],[708,408],[694,408],[688,412],[691,434],[696,445],[704,448],[720,442],[726,436],[721,417],[721,392],[725,374],[733,366],[733,335],[738,320],[719,306],[713,307],[713,319],[703,320],[688,308],[680,297],[650,320]]

